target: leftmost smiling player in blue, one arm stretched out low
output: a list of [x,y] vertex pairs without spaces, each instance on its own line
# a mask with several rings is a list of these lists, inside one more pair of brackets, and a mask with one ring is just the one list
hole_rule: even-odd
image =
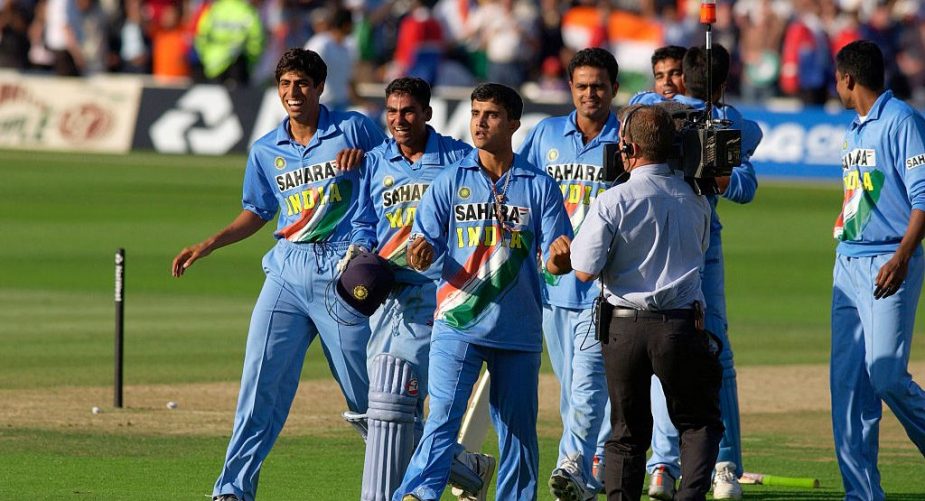
[[347,406],[356,412],[367,408],[369,324],[335,321],[325,295],[350,242],[359,192],[359,170],[340,167],[356,165],[385,135],[363,115],[318,104],[326,76],[318,54],[303,49],[283,54],[276,81],[287,117],[250,149],[243,210],[226,228],[173,260],[173,275],[179,277],[198,259],[253,235],[279,213],[277,243],[263,258],[266,281],[251,316],[234,428],[215,499],[256,496],[260,467],[289,414],[305,352],[316,336]]

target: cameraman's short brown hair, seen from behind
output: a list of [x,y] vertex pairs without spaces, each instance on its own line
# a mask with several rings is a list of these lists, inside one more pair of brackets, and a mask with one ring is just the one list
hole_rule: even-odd
[[[630,117],[629,120],[626,120]],[[667,110],[658,106],[633,105],[620,110],[626,130],[620,131],[624,142],[634,143],[639,156],[653,162],[667,162],[674,145],[674,121]]]

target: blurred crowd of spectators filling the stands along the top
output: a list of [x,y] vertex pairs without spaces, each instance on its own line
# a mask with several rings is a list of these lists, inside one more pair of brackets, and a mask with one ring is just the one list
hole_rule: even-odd
[[[288,47],[331,66],[324,102],[353,84],[419,76],[435,86],[494,81],[533,98],[566,89],[564,64],[611,50],[623,91],[650,85],[649,56],[704,41],[699,0],[0,0],[0,67],[272,83]],[[730,49],[728,94],[741,101],[834,97],[832,55],[875,41],[895,94],[925,104],[925,5],[919,0],[718,0],[714,40]]]

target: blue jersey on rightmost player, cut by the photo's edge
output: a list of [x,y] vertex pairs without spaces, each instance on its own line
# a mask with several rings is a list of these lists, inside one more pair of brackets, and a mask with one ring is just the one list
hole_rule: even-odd
[[896,251],[912,209],[925,210],[925,119],[885,91],[842,144],[845,201],[835,223],[838,254]]

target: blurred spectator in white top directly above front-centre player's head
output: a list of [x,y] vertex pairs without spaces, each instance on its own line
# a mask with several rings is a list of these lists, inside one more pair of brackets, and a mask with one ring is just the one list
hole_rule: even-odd
[[538,46],[536,6],[526,0],[482,0],[466,22],[468,38],[485,51],[488,81],[519,88]]

